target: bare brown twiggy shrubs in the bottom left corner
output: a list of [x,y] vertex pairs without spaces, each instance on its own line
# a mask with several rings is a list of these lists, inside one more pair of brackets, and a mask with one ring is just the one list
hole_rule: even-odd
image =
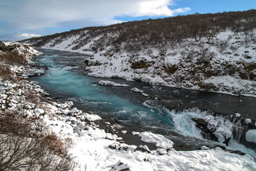
[[0,170],[72,170],[70,141],[33,131],[33,120],[20,112],[0,114]]

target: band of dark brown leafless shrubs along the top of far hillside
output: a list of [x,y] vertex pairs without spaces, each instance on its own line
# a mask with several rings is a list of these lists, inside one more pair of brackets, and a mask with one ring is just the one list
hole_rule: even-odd
[[111,26],[86,27],[64,33],[31,38],[36,47],[42,47],[51,40],[52,46],[71,36],[80,34],[79,38],[70,45],[75,45],[73,50],[83,47],[96,36],[98,40],[93,41],[90,47],[94,52],[113,45],[114,50],[123,48],[127,51],[137,51],[148,45],[161,46],[168,43],[176,43],[184,38],[194,38],[195,41],[207,38],[208,42],[220,31],[227,27],[236,33],[242,32],[248,36],[250,31],[256,27],[256,10],[194,14],[186,16],[168,17],[164,19],[148,19],[133,22],[124,22]]

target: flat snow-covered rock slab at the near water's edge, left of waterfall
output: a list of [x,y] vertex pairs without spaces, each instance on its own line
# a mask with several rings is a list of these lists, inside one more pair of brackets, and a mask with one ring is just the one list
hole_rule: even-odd
[[156,147],[163,149],[171,149],[173,147],[172,140],[165,138],[163,135],[154,134],[151,132],[143,132],[139,135],[141,137],[141,141],[150,142],[156,144]]

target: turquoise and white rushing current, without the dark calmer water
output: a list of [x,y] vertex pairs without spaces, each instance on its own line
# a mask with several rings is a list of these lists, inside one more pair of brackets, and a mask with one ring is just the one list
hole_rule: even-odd
[[[162,133],[172,140],[183,141],[188,145],[200,147],[204,144],[216,144],[216,142],[203,140],[201,130],[196,128],[195,123],[191,121],[191,118],[205,119],[209,115],[208,112],[202,112],[195,108],[176,112],[175,110],[168,110],[164,105],[159,105],[157,100],[140,102],[140,95],[132,93],[130,88],[122,89],[121,94],[125,94],[125,96],[120,96],[114,88],[110,89],[95,84],[101,80],[100,78],[86,77],[76,71],[70,71],[74,67],[61,64],[63,61],[67,62],[67,59],[61,60],[65,58],[63,54],[66,53],[47,50],[44,55],[36,57],[36,62],[44,64],[49,70],[45,75],[31,79],[40,82],[40,85],[49,93],[56,93],[58,96],[63,96],[65,100],[75,101],[87,111],[117,117],[124,123]],[[68,57],[70,58],[70,56]],[[83,56],[77,56],[77,59],[80,58],[82,59]],[[129,82],[125,82],[125,84],[129,84]],[[161,87],[159,89],[161,90]],[[239,144],[237,145],[235,140],[239,140],[243,133],[239,122],[233,121],[232,123],[223,117],[214,117],[214,119],[223,130],[236,132],[234,139],[230,140],[230,147],[237,148]],[[226,136],[221,135],[220,132],[219,135],[217,133],[216,135],[218,138]],[[256,156],[255,152],[247,150],[246,147],[239,146],[239,149]]]

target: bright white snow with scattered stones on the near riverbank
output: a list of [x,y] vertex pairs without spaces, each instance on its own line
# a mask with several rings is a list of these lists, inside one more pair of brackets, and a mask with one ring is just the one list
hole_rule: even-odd
[[[44,121],[47,128],[62,139],[71,138],[73,146],[70,153],[77,162],[75,170],[256,170],[252,156],[232,154],[218,147],[175,151],[171,140],[148,132],[134,134],[145,142],[156,144],[154,151],[147,146],[120,143],[120,137],[100,130],[93,123],[100,119],[99,116],[77,110],[72,101],[62,104],[51,100],[31,103],[26,100],[28,90],[40,96],[46,94],[36,82],[1,80],[1,111],[22,108],[24,117]],[[125,130],[122,131],[125,133]]]

